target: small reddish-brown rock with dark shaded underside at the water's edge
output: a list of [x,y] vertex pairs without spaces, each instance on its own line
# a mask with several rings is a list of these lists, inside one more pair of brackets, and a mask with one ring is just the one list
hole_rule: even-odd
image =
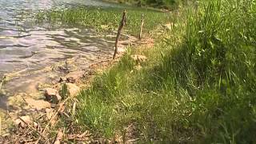
[[47,88],[45,90],[45,97],[47,101],[58,103],[62,100],[62,97],[58,94],[58,90]]

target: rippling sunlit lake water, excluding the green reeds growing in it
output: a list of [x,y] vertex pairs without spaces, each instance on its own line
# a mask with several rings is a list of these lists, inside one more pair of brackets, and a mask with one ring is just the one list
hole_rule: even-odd
[[70,59],[76,64],[71,71],[85,70],[111,57],[113,33],[99,34],[74,26],[53,28],[47,23],[38,25],[33,19],[40,10],[70,6],[119,5],[94,0],[0,0],[0,82],[3,75],[11,75],[3,86],[4,93],[0,90],[0,108],[6,107],[7,97],[38,92],[40,84],[59,78],[62,71],[50,66]]

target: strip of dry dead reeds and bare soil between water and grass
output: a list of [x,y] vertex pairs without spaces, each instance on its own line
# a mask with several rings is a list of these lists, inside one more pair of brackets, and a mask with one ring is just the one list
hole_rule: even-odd
[[[148,49],[150,47],[154,46],[154,39],[152,38],[145,38],[142,41],[138,40],[136,42],[133,42],[133,48],[140,48],[144,47],[145,49]],[[79,90],[86,90],[90,88],[91,82],[93,82],[95,76],[98,74],[102,74],[102,71],[109,70],[112,66],[115,66],[118,62],[120,62],[121,58],[123,57],[123,54],[126,54],[126,52],[122,51],[119,52],[117,57],[113,60],[112,57],[106,58],[104,60],[101,60],[99,62],[95,62],[88,66],[88,69],[84,70],[84,74],[82,74],[82,77],[79,77],[76,79],[75,82],[58,82],[52,86],[51,88],[54,88],[55,90],[61,91],[63,88],[63,84],[72,84],[74,86],[78,86]],[[76,71],[78,72],[78,71]],[[75,71],[74,71],[75,73]],[[19,138],[20,134],[26,134],[24,130],[33,130],[34,128],[32,127],[37,127],[37,126],[42,126],[42,128],[38,131],[34,131],[35,133],[38,133],[39,135],[44,134],[42,131],[47,131],[45,133],[52,133],[58,134],[60,131],[57,130],[57,127],[55,127],[55,124],[60,120],[58,119],[58,114],[65,114],[64,111],[69,111],[69,110],[74,110],[74,103],[77,103],[77,98],[75,97],[79,92],[76,91],[74,94],[69,95],[68,97],[62,98],[58,104],[54,104],[54,106],[50,107],[44,107],[41,110],[33,110],[32,113],[30,114],[25,114],[23,116],[18,116],[18,118],[13,119],[14,122],[19,122],[18,125],[16,123],[15,125],[15,134],[13,135],[12,133],[6,133],[6,134],[1,134],[2,138],[5,140],[5,142],[12,142],[11,139],[17,139]],[[23,100],[26,102],[26,105],[30,105],[27,101],[26,98],[23,98]],[[33,102],[33,101],[32,101]],[[35,102],[35,101],[34,101]],[[71,103],[70,103],[71,102]],[[74,102],[74,103],[72,103]],[[33,103],[32,103],[33,104]],[[30,109],[32,107],[30,106]],[[50,116],[48,116],[50,114]],[[10,114],[8,114],[10,117]],[[23,120],[24,118],[24,120]],[[27,118],[27,119],[26,119]],[[41,119],[43,118],[43,119]],[[48,119],[48,120],[47,120]],[[26,122],[27,121],[27,122]],[[60,120],[62,121],[62,120]],[[48,127],[51,125],[51,127]],[[74,126],[75,127],[75,126]],[[24,129],[24,130],[23,130]],[[49,129],[49,130],[47,130]],[[41,131],[41,132],[40,132]],[[80,130],[78,130],[80,131]],[[78,132],[76,131],[76,132]],[[90,134],[89,131],[85,132],[87,135],[90,135],[90,142],[106,142],[108,140],[101,140],[101,138],[95,138],[94,134]],[[78,134],[84,134],[81,131],[78,132]],[[26,135],[26,138],[30,137],[32,135],[28,134]],[[45,137],[45,136],[44,136]],[[45,137],[45,138],[53,138],[53,137]],[[39,136],[38,141],[42,139],[43,137]],[[1,140],[1,137],[0,137]],[[46,140],[46,139],[45,139]],[[51,139],[50,142],[56,142],[56,139]],[[45,141],[47,142],[47,141]],[[48,140],[49,142],[49,140]],[[88,142],[88,141],[83,141],[83,142]]]

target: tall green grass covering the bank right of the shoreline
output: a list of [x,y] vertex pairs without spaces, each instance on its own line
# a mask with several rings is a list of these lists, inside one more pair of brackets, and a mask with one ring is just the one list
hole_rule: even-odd
[[[78,96],[76,119],[95,134],[141,142],[253,143],[256,134],[254,0],[202,2],[171,14],[152,49],[129,49]],[[136,70],[131,54],[148,61]]]

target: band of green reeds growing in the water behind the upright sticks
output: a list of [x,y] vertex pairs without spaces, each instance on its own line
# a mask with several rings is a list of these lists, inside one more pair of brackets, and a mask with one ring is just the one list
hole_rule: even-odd
[[[145,18],[145,33],[168,22],[168,14],[146,9],[127,8],[127,22],[125,30],[128,34],[138,35],[142,14]],[[118,8],[70,8],[67,10],[48,10],[37,14],[38,22],[50,22],[54,24],[66,24],[69,26],[87,26],[95,30],[117,30],[122,18],[122,9]]]

